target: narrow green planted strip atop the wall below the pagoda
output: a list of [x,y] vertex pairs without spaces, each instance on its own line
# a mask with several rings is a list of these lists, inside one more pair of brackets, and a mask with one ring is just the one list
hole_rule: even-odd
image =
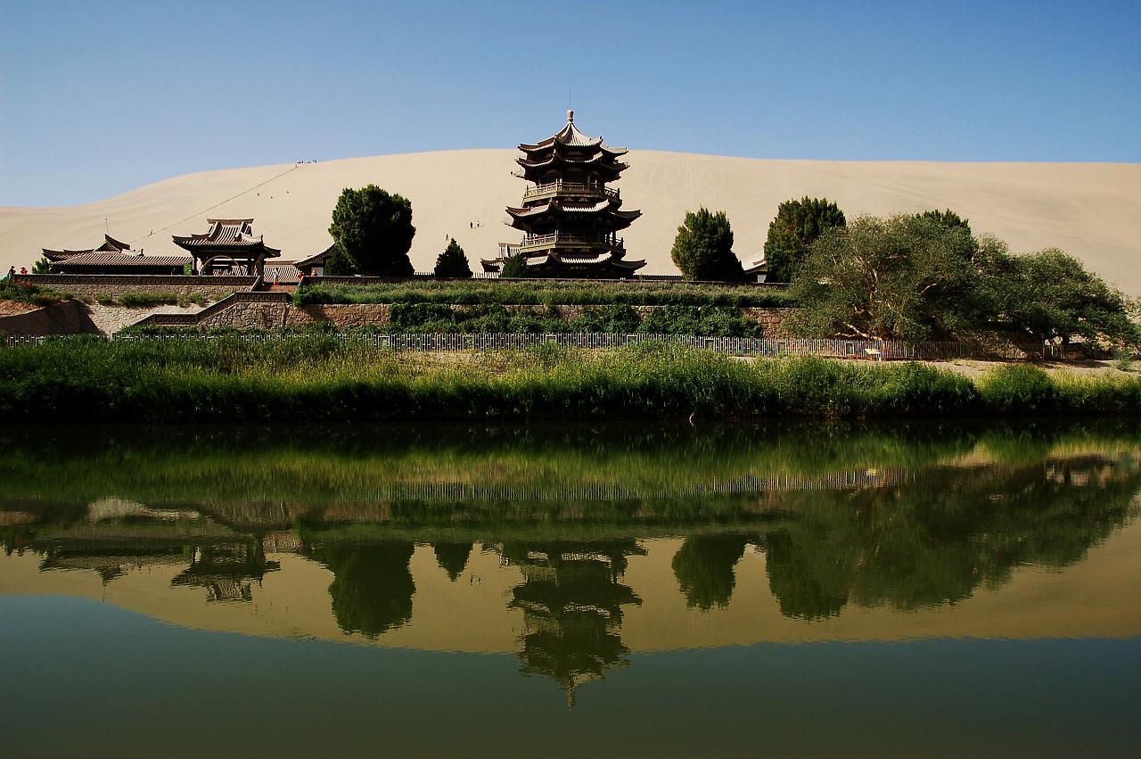
[[791,306],[787,292],[755,286],[673,282],[495,282],[486,280],[321,283],[302,285],[293,301],[308,304],[446,304],[460,306]]

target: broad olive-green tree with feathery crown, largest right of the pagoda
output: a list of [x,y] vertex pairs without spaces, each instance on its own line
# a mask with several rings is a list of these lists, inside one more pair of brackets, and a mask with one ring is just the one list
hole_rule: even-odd
[[977,323],[979,243],[930,218],[861,216],[822,235],[793,277],[793,326],[814,336],[920,340]]

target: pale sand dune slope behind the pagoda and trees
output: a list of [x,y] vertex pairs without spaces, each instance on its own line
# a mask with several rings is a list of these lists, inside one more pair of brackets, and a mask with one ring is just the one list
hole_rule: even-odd
[[[329,245],[340,191],[375,183],[412,201],[418,271],[431,268],[448,235],[477,268],[496,243],[521,236],[503,225],[504,207],[520,204],[526,186],[511,176],[518,155],[450,151],[232,169],[84,205],[2,208],[0,265],[30,266],[41,248],[91,247],[105,218],[112,236],[172,253],[179,251],[170,235],[203,232],[207,217],[253,217],[254,231],[282,249],[283,260],[300,259]],[[763,247],[777,204],[810,195],[835,200],[849,218],[950,208],[1015,252],[1062,248],[1127,293],[1141,293],[1141,164],[771,161],[650,151],[626,160],[631,168],[617,186],[626,208],[645,216],[625,240],[630,258],[648,261],[647,274],[675,273],[670,247],[687,210],[723,209],[747,261]]]

